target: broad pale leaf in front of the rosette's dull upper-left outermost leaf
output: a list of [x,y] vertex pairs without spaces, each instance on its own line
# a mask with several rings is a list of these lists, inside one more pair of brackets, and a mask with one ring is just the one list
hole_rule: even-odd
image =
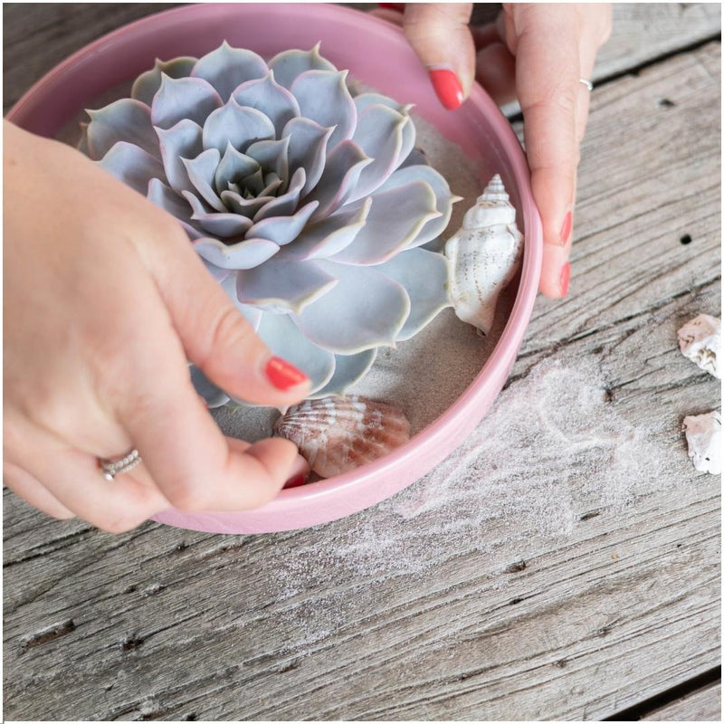
[[191,119],[203,128],[212,111],[223,105],[219,94],[201,78],[161,76],[161,87],[151,105],[151,121],[161,129],[170,129],[179,120]]

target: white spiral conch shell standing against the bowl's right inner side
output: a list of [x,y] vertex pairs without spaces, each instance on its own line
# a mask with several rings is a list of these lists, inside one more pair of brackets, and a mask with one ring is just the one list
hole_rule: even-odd
[[522,251],[515,208],[496,174],[445,243],[452,306],[479,334],[491,331],[498,297],[518,271]]

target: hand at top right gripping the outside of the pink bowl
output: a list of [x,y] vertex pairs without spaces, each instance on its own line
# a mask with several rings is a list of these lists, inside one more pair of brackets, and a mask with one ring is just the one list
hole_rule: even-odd
[[580,79],[591,78],[596,52],[611,33],[611,6],[503,4],[498,21],[481,27],[469,25],[471,3],[407,3],[404,13],[389,7],[373,13],[403,27],[445,108],[458,108],[474,80],[501,104],[519,100],[543,222],[540,291],[566,296],[590,100]]

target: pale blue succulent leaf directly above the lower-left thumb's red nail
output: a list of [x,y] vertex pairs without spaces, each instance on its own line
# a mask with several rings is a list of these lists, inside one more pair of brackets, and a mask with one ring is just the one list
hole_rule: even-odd
[[294,324],[291,315],[264,312],[257,334],[275,355],[309,376],[310,394],[325,386],[334,374],[334,355],[310,342]]

